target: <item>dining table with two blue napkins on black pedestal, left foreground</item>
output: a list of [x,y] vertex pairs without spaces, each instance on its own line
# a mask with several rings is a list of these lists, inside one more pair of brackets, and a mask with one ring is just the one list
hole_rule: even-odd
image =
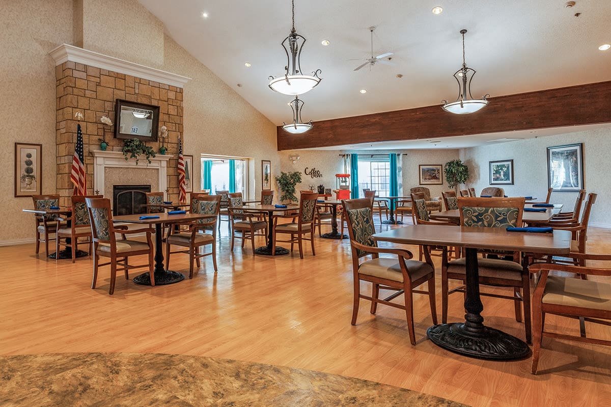
[[[141,216],[158,216],[153,219],[141,219]],[[163,264],[163,231],[161,225],[171,225],[177,223],[189,223],[204,218],[214,218],[216,215],[200,215],[200,214],[168,214],[167,212],[159,212],[158,214],[137,214],[137,215],[121,215],[112,217],[112,222],[121,223],[138,223],[141,225],[155,225],[155,285],[163,286],[164,284],[174,284],[185,279],[183,273],[166,270]],[[142,273],[134,277],[134,283],[150,286],[150,274]]]

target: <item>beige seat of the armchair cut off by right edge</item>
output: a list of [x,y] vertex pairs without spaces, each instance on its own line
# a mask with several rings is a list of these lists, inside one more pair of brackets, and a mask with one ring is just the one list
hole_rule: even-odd
[[549,276],[545,284],[543,303],[611,311],[611,284]]

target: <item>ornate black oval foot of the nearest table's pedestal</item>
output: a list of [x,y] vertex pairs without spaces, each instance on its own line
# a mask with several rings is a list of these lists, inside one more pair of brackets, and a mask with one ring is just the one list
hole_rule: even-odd
[[473,333],[463,322],[444,323],[428,328],[426,336],[439,347],[471,358],[511,361],[530,356],[523,340],[487,326]]

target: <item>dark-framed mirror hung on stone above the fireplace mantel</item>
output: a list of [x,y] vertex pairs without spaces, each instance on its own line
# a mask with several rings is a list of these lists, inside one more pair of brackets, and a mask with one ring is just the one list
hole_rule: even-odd
[[115,105],[115,138],[156,141],[159,106],[117,99]]

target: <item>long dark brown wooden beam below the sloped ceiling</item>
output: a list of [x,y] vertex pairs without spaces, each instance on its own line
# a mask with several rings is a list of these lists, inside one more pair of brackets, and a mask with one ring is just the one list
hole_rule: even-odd
[[321,120],[305,134],[277,127],[278,150],[611,123],[611,81],[489,98],[470,115],[441,104]]

